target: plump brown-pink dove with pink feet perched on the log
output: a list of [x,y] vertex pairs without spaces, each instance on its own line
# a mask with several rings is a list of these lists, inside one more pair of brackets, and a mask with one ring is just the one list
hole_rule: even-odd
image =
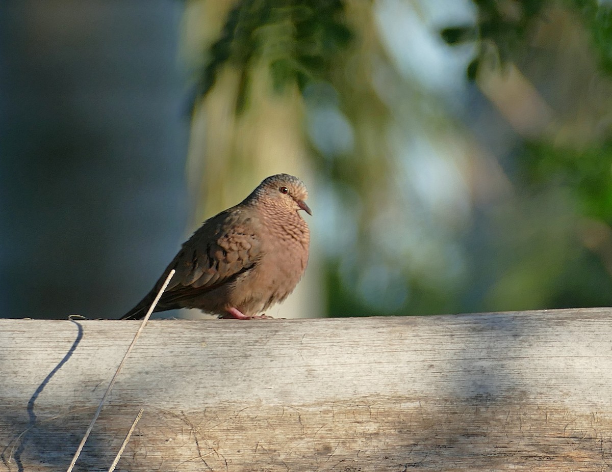
[[241,203],[206,219],[168,264],[151,292],[121,317],[142,319],[171,270],[176,270],[154,312],[199,308],[219,318],[269,318],[306,265],[310,230],[302,210],[308,190],[297,177],[267,177]]

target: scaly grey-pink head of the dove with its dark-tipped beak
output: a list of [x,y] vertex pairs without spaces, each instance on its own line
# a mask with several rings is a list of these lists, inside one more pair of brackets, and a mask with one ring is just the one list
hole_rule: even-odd
[[304,182],[293,175],[271,175],[259,184],[250,197],[277,208],[289,211],[304,210],[308,215],[312,215],[305,202],[308,190]]

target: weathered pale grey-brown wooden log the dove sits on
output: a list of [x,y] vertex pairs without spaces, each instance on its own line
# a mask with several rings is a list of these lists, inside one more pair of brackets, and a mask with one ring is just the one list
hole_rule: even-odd
[[[67,468],[137,328],[0,320],[0,471]],[[76,470],[140,407],[118,470],[607,471],[612,309],[152,321]]]

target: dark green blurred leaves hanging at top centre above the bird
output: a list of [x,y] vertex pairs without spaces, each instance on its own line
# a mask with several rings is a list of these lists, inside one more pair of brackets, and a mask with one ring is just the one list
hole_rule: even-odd
[[237,111],[248,98],[250,68],[260,61],[269,67],[277,91],[288,83],[304,90],[308,83],[326,78],[330,62],[351,38],[342,12],[340,0],[236,2],[221,37],[211,46],[198,98],[211,89],[219,68],[227,63],[243,72]]

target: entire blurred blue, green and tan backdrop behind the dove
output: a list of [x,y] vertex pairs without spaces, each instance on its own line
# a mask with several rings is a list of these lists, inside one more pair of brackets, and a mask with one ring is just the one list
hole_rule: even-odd
[[120,317],[278,172],[269,315],[610,306],[611,45],[603,0],[4,0],[0,315]]

